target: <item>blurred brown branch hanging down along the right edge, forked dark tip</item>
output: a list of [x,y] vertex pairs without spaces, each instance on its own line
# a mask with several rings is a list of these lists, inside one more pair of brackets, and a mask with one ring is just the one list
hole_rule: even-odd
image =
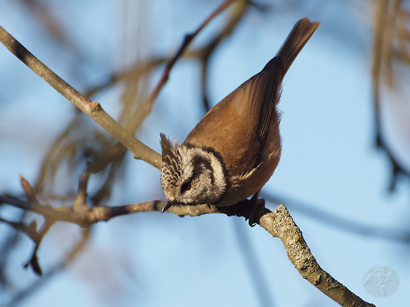
[[[407,8],[405,7],[407,5]],[[394,65],[407,68],[410,64],[410,11],[408,2],[378,0],[375,14],[375,39],[373,47],[373,100],[375,109],[376,146],[384,151],[391,164],[389,190],[393,191],[400,176],[410,178],[406,168],[387,143],[382,131],[381,93],[383,86],[397,89],[401,79]],[[408,101],[407,101],[408,103]],[[407,122],[408,123],[408,122]]]

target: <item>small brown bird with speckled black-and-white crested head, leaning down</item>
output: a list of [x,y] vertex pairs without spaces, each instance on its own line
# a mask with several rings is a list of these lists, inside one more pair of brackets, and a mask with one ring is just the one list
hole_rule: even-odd
[[185,142],[160,135],[162,212],[174,205],[230,206],[259,193],[279,163],[282,79],[319,24],[300,19],[262,71],[210,109]]

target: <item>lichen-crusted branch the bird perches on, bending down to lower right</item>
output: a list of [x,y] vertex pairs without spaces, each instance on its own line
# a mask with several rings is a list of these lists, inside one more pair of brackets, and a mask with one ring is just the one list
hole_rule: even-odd
[[[16,207],[33,211],[52,218],[55,221],[65,221],[78,224],[81,227],[89,227],[100,221],[108,221],[119,215],[136,212],[160,211],[163,202],[153,200],[150,202],[129,204],[125,206],[109,207],[95,206],[85,207],[85,210],[74,212],[72,207],[52,208],[50,206],[31,204],[24,201],[13,201],[6,196],[0,196],[0,203],[9,203]],[[288,258],[303,278],[308,280],[317,289],[329,296],[341,306],[359,307],[374,306],[363,301],[343,284],[334,279],[317,264],[308,245],[304,241],[302,232],[293,221],[292,216],[283,205],[279,205],[273,212],[264,207],[264,200],[259,200],[259,206],[255,212],[255,221],[272,236],[278,237],[286,250]],[[249,200],[244,200],[230,207],[215,207],[210,205],[171,207],[169,211],[179,216],[199,216],[209,213],[223,213],[228,216],[247,217],[252,206]]]

